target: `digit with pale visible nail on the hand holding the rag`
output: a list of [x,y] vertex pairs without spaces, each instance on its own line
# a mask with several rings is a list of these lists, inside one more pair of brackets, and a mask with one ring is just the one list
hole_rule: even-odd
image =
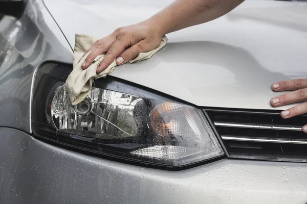
[[117,58],[116,63],[118,65],[124,64],[136,57],[139,56],[140,53],[148,52],[150,49],[148,49],[148,46],[145,44],[145,40],[142,40],[138,42],[137,44],[131,46],[130,48],[126,49],[124,52],[122,52]]

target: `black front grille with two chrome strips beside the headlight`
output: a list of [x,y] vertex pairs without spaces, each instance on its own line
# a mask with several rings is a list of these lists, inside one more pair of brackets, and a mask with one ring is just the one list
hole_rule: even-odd
[[204,110],[231,158],[307,162],[307,116],[275,111]]

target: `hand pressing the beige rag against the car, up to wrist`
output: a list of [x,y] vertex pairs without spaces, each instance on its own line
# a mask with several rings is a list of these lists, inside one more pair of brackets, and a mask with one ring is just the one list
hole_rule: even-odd
[[92,52],[81,67],[86,69],[98,55],[106,53],[97,68],[97,73],[100,73],[115,59],[118,65],[124,64],[138,57],[140,53],[157,48],[162,37],[163,34],[159,32],[159,29],[147,21],[118,28],[111,35],[97,40],[86,51],[84,55]]

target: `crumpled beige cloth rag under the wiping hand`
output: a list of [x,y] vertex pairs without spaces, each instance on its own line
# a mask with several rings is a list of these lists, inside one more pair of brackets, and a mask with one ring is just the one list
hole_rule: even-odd
[[[72,105],[79,104],[87,95],[90,94],[93,79],[106,77],[106,75],[111,73],[117,65],[116,61],[114,60],[104,71],[97,74],[97,67],[105,56],[105,54],[102,54],[97,56],[87,69],[81,68],[81,65],[90,53],[87,53],[84,57],[82,56],[86,50],[88,50],[94,44],[96,40],[97,39],[95,37],[90,35],[76,34],[73,57],[73,71],[70,73],[65,83],[69,97],[72,101]],[[152,55],[157,53],[162,47],[166,45],[166,42],[167,37],[163,36],[160,45],[156,49],[153,49],[147,53],[140,53],[137,58],[130,60],[129,62],[139,62],[151,58]]]

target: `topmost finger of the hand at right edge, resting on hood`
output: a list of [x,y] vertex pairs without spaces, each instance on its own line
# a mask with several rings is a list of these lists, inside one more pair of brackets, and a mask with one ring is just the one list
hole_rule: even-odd
[[291,91],[301,88],[307,88],[307,79],[293,79],[272,84],[273,91]]

